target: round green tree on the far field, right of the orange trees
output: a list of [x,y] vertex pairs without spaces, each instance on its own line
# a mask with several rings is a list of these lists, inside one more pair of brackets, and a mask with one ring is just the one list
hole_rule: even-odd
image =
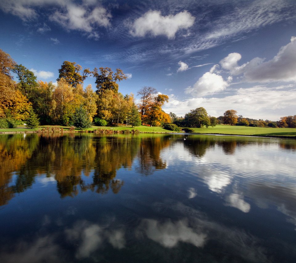
[[208,116],[208,112],[203,107],[191,110],[189,113],[185,114],[184,122],[187,127],[201,128],[204,125],[210,126],[211,121]]

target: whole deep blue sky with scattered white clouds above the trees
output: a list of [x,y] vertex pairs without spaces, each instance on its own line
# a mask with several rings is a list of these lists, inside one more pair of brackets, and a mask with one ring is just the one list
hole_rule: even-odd
[[1,0],[0,25],[0,49],[38,80],[70,61],[120,68],[119,92],[154,87],[179,117],[296,114],[296,0]]

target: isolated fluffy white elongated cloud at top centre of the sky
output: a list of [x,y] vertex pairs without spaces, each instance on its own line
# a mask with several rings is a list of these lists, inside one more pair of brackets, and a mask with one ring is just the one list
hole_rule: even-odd
[[178,30],[191,27],[194,20],[195,18],[187,11],[162,16],[160,11],[150,10],[134,21],[130,34],[139,37],[146,34],[152,36],[165,35],[167,38],[172,39]]

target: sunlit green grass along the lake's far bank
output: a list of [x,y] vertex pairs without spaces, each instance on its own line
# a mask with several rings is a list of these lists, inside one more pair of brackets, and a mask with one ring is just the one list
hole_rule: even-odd
[[[41,130],[42,128],[47,127],[58,127],[63,128],[64,131],[68,131],[69,127],[58,126],[58,125],[43,125],[37,129],[29,129],[24,126],[18,127],[15,129],[0,129],[0,132],[30,132]],[[162,127],[147,127],[147,126],[138,126],[138,127],[128,127],[128,126],[115,126],[115,127],[98,127],[92,126],[88,131],[93,131],[95,129],[112,129],[114,131],[121,130],[138,130],[140,132],[173,132],[165,130]],[[80,129],[76,129],[78,131]],[[296,137],[296,128],[260,128],[260,127],[246,127],[246,126],[230,126],[230,125],[217,125],[216,127],[208,128],[193,128],[195,133],[210,133],[210,134],[228,134],[228,135],[253,135],[253,136],[295,136]]]

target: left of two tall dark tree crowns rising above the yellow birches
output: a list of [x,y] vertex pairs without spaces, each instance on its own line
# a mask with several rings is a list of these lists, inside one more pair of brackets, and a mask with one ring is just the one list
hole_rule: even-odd
[[59,77],[56,80],[65,79],[69,85],[76,87],[78,84],[82,84],[87,76],[91,74],[89,69],[86,68],[81,75],[81,69],[82,67],[76,64],[76,62],[64,61],[59,69]]

